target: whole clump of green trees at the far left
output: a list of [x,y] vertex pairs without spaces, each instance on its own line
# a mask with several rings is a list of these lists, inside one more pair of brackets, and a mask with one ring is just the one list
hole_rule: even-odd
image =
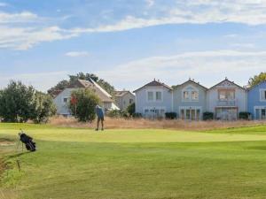
[[56,112],[51,96],[27,87],[20,81],[11,80],[7,88],[0,91],[0,118],[4,122],[36,123],[47,121]]

